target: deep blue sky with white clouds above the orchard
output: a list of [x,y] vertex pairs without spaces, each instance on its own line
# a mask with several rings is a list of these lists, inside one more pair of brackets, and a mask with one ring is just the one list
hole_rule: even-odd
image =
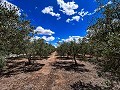
[[0,1],[20,8],[19,15],[27,14],[27,19],[35,26],[34,39],[43,38],[53,45],[86,36],[87,27],[99,10],[95,0]]

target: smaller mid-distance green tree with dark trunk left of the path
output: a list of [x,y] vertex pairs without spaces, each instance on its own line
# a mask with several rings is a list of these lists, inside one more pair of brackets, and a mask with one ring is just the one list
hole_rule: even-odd
[[28,41],[26,44],[28,45],[24,49],[24,53],[28,58],[29,64],[31,64],[32,58],[47,58],[52,52],[55,51],[55,47],[46,43],[44,39],[38,39],[32,42]]

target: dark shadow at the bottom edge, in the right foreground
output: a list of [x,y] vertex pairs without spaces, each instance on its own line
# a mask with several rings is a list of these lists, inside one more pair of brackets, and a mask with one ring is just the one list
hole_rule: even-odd
[[70,85],[72,90],[109,90],[109,89],[103,89],[103,87],[100,87],[98,85],[92,85],[91,83],[84,83],[82,81],[76,82],[73,85]]

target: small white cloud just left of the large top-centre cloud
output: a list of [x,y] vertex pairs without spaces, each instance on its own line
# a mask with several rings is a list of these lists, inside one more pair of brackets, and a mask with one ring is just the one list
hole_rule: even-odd
[[52,16],[58,17],[57,19],[60,19],[60,14],[59,14],[59,13],[54,13],[52,6],[45,7],[45,8],[42,10],[42,13],[44,13],[44,14],[50,14],[50,15],[52,15]]

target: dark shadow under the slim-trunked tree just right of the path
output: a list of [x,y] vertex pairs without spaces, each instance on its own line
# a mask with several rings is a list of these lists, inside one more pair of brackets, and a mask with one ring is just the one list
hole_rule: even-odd
[[88,69],[86,69],[84,64],[77,64],[75,65],[72,61],[56,61],[52,64],[55,69],[64,69],[66,71],[75,71],[75,72],[89,72]]

